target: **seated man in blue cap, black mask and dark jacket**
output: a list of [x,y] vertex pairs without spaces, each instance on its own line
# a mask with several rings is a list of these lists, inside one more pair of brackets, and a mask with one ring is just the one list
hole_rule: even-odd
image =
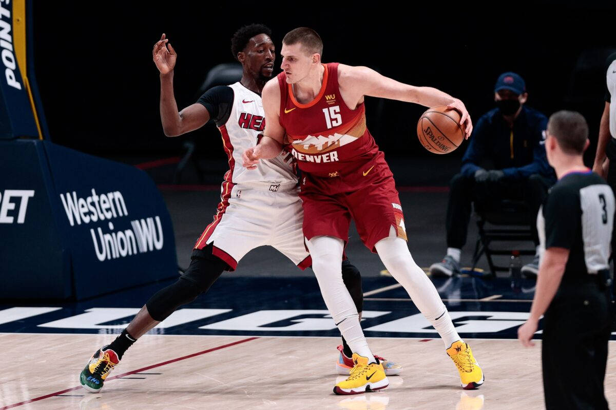
[[[436,276],[460,273],[461,249],[471,216],[471,202],[482,210],[493,210],[501,199],[524,200],[530,214],[533,241],[538,246],[534,224],[548,187],[555,181],[554,170],[545,155],[545,129],[548,118],[524,104],[529,98],[524,79],[516,73],[503,73],[496,80],[496,108],[486,112],[472,130],[462,169],[450,183],[447,203],[447,254],[432,264]],[[491,160],[493,169],[481,165]],[[538,254],[522,268],[526,275],[537,275]]]

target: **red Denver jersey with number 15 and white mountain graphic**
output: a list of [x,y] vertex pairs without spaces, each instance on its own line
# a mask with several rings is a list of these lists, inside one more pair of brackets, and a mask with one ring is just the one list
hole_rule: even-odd
[[[366,127],[363,103],[350,109],[338,89],[338,63],[323,65],[323,84],[314,100],[301,104],[286,74],[278,74],[280,124],[285,149],[299,169],[314,176],[342,176],[376,158],[378,146]],[[382,155],[382,154],[381,154]]]

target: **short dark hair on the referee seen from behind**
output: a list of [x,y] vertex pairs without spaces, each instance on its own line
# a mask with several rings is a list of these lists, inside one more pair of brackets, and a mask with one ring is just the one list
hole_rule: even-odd
[[549,117],[548,133],[566,154],[579,155],[586,148],[588,124],[579,112],[562,110]]

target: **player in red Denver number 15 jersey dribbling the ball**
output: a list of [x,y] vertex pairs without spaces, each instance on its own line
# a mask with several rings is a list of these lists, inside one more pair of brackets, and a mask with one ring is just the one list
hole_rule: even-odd
[[265,84],[264,137],[243,154],[244,166],[291,152],[304,177],[303,230],[323,299],[354,352],[351,376],[334,393],[356,394],[386,388],[386,374],[368,347],[339,260],[351,218],[363,243],[378,253],[392,276],[445,342],[463,388],[476,388],[484,375],[449,317],[436,288],[415,264],[405,243],[402,207],[394,178],[368,132],[365,95],[424,106],[446,105],[461,114],[466,138],[472,123],[462,101],[430,87],[413,87],[367,67],[321,63],[323,43],[309,28],[287,33],[282,45],[283,73]]

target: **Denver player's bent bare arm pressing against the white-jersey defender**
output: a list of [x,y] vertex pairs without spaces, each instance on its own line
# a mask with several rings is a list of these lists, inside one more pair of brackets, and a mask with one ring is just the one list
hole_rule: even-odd
[[259,144],[248,148],[242,154],[243,166],[249,170],[257,167],[259,160],[278,156],[282,151],[285,128],[280,125],[280,87],[274,78],[265,84],[261,92],[263,110],[265,111],[265,130]]

